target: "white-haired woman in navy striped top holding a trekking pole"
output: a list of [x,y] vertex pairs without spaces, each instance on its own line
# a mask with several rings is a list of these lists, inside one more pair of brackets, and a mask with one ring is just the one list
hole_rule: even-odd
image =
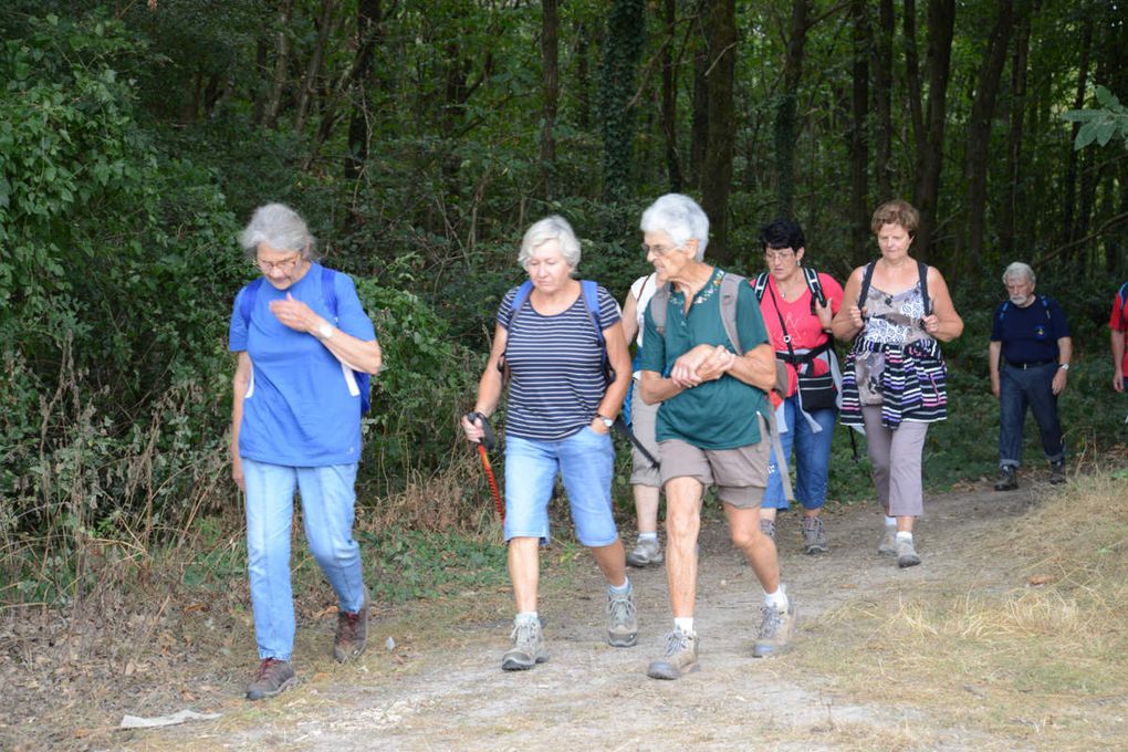
[[[548,540],[548,502],[557,475],[576,538],[591,549],[607,578],[608,642],[631,647],[638,631],[623,541],[611,515],[610,430],[631,381],[618,304],[603,287],[572,277],[580,242],[561,216],[530,227],[517,260],[529,282],[502,300],[474,413],[462,419],[466,437],[481,442],[482,419],[497,407],[508,372],[504,528],[517,617],[513,646],[502,658],[506,671],[548,658],[537,617],[538,546]],[[615,372],[610,383],[605,348]]]

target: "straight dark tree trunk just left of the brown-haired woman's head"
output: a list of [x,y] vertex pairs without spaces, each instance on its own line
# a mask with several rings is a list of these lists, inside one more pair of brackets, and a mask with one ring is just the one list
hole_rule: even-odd
[[866,256],[870,242],[870,140],[867,126],[870,118],[870,15],[867,0],[851,0],[851,17],[854,23],[853,34],[853,86],[851,97],[851,136],[849,136],[849,214],[852,256],[861,260]]

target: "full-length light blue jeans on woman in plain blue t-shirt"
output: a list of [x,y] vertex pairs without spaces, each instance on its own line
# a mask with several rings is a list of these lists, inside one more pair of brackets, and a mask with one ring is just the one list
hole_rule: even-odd
[[301,492],[306,541],[342,611],[364,602],[360,546],[352,537],[356,465],[296,468],[243,460],[247,481],[247,568],[259,658],[289,661],[293,654],[293,591],[290,528],[293,492]]

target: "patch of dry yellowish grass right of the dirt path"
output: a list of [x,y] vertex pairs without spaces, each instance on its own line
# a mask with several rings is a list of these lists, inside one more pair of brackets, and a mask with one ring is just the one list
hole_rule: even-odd
[[[808,623],[799,660],[869,700],[946,708],[1013,744],[1116,749],[1128,734],[1128,494],[1078,479],[942,583]],[[1011,523],[1005,523],[1010,525]],[[1005,530],[1001,527],[998,530]]]

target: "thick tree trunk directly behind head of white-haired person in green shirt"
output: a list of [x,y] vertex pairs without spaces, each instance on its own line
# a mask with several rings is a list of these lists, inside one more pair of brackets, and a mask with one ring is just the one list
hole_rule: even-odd
[[729,250],[729,193],[732,187],[732,145],[737,116],[732,104],[737,70],[735,0],[711,0],[708,16],[708,144],[702,175],[702,209],[710,220],[710,256],[720,265]]

